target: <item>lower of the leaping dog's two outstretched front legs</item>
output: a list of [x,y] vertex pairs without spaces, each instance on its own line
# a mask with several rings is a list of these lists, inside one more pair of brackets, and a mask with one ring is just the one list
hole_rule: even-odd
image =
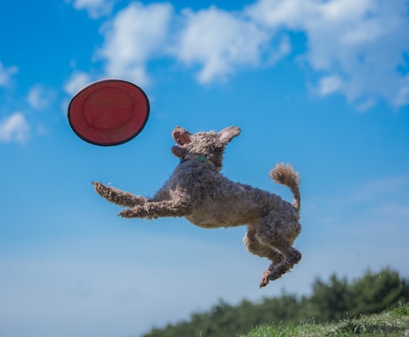
[[188,216],[191,214],[192,207],[187,201],[175,202],[174,200],[148,201],[143,205],[124,209],[119,216],[139,217],[145,219],[155,219],[164,216]]

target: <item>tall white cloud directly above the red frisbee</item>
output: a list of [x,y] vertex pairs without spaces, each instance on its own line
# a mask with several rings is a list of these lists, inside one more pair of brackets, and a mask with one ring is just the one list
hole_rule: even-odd
[[98,51],[108,76],[147,85],[148,59],[164,52],[171,19],[170,4],[132,3],[118,12],[103,28],[105,43]]

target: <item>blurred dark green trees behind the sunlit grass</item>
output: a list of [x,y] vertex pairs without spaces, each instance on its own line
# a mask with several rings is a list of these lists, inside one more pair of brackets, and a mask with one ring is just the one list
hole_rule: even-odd
[[295,325],[307,319],[327,322],[380,312],[397,302],[409,302],[409,284],[396,271],[367,271],[351,283],[333,274],[326,283],[317,278],[309,296],[282,294],[261,302],[243,300],[237,306],[220,300],[209,311],[193,313],[188,321],[154,328],[143,337],[237,336],[256,325]]

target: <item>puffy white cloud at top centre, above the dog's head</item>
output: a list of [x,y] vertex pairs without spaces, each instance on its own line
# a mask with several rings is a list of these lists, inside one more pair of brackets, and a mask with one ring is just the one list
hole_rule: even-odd
[[[253,22],[214,6],[200,12],[184,11],[183,15],[186,26],[174,55],[188,65],[202,66],[198,82],[224,79],[237,67],[261,64],[261,48],[270,36]],[[282,49],[285,51],[285,44]]]

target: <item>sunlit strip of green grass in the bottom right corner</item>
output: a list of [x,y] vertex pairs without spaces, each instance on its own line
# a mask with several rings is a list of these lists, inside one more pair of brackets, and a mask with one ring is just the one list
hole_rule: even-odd
[[342,319],[335,323],[311,321],[296,326],[261,325],[241,337],[409,336],[409,303],[381,314]]

